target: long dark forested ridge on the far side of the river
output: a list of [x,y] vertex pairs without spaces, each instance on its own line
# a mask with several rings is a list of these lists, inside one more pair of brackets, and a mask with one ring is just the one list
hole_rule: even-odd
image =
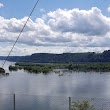
[[[0,60],[6,57],[1,56]],[[80,63],[80,62],[110,62],[110,50],[102,53],[34,53],[30,56],[10,56],[8,61],[15,62],[35,62],[35,63]]]

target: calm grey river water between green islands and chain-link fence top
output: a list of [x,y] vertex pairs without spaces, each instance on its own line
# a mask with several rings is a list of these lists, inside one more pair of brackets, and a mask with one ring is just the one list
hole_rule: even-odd
[[[6,62],[4,67],[7,72],[9,72],[8,66],[10,64],[13,63]],[[0,61],[1,65],[2,61]],[[9,76],[0,76],[0,94],[110,98],[109,72],[100,74],[63,71],[63,76],[59,76],[55,72],[44,75],[42,73],[32,74],[23,70],[9,73]]]

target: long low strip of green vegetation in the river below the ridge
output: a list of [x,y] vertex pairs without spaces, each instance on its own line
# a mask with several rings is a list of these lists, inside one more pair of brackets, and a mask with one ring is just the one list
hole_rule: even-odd
[[36,64],[36,63],[16,63],[9,66],[10,71],[24,69],[30,73],[49,73],[54,69],[68,69],[82,72],[110,72],[110,63],[78,63],[78,64]]

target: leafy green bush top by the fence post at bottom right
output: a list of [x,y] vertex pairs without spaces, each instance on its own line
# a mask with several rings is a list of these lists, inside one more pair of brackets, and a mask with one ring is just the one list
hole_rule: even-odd
[[71,110],[95,110],[88,100],[72,102]]

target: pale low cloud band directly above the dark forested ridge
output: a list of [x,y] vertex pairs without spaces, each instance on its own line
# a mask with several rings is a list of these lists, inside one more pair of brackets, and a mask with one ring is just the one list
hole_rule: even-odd
[[[0,47],[0,56],[8,55],[12,46]],[[104,50],[110,50],[110,47],[62,47],[62,46],[53,46],[53,47],[36,47],[36,46],[27,46],[21,45],[15,46],[11,55],[23,56],[31,55],[32,53],[65,53],[65,52],[103,52]]]

